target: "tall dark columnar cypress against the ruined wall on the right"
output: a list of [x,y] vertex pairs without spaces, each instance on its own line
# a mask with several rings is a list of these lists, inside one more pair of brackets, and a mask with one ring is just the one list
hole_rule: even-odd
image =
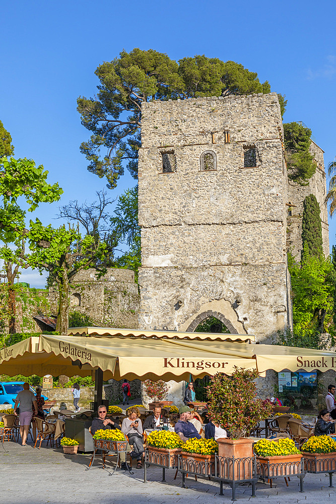
[[320,206],[313,194],[303,200],[301,237],[303,248],[301,258],[304,256],[304,251],[309,256],[323,256]]

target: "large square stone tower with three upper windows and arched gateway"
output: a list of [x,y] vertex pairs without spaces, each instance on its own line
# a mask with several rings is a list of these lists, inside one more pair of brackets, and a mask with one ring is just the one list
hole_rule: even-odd
[[289,188],[276,93],[144,103],[139,327],[291,326]]

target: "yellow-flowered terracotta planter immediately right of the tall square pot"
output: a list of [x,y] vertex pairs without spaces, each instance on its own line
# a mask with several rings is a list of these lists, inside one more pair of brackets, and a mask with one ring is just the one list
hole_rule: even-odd
[[293,439],[288,437],[260,439],[254,444],[253,449],[257,456],[257,472],[262,478],[272,479],[280,475],[301,473],[302,454],[296,448]]

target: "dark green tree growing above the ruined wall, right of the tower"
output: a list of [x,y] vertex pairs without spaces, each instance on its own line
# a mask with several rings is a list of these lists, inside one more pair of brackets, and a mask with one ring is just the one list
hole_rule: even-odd
[[316,166],[314,157],[309,153],[311,130],[299,122],[284,124],[284,145],[288,177],[301,185],[307,185]]

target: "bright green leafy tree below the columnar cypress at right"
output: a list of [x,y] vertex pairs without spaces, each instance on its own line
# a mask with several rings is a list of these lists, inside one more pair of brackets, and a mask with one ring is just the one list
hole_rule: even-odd
[[303,338],[324,333],[333,313],[335,272],[330,257],[310,255],[305,245],[301,263],[288,254],[291,274],[294,329]]

